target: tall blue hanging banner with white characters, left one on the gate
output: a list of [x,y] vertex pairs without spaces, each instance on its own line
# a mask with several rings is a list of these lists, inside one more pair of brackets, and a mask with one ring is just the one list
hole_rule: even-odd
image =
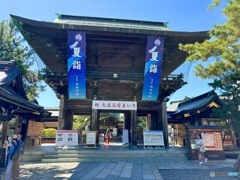
[[69,99],[86,99],[86,32],[68,32]]

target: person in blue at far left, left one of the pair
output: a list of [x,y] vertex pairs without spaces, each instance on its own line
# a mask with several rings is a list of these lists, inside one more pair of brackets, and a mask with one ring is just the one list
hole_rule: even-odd
[[14,153],[15,148],[17,147],[17,135],[12,135],[12,142],[8,148],[8,154],[7,154],[7,166],[5,171],[5,180],[11,180],[11,174],[12,174],[12,155]]

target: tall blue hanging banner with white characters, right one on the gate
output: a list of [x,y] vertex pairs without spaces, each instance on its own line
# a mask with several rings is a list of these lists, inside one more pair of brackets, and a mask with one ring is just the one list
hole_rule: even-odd
[[142,92],[143,101],[157,101],[161,80],[163,47],[164,37],[148,37]]

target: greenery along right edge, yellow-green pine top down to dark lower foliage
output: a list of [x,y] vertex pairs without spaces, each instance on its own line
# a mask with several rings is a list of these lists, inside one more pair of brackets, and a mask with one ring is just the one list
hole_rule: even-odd
[[[210,83],[226,99],[218,115],[225,121],[223,128],[239,132],[239,82],[240,82],[240,0],[213,0],[209,8],[225,3],[222,13],[226,22],[214,25],[209,39],[203,43],[180,44],[179,49],[189,54],[187,61],[198,61],[195,74],[200,78],[213,78]],[[240,170],[240,155],[234,171]]]

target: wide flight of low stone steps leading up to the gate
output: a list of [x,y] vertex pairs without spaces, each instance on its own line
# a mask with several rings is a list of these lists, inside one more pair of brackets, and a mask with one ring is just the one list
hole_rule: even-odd
[[116,162],[116,161],[184,161],[188,159],[187,148],[144,149],[128,146],[98,146],[98,148],[75,149],[55,146],[27,149],[23,162]]

